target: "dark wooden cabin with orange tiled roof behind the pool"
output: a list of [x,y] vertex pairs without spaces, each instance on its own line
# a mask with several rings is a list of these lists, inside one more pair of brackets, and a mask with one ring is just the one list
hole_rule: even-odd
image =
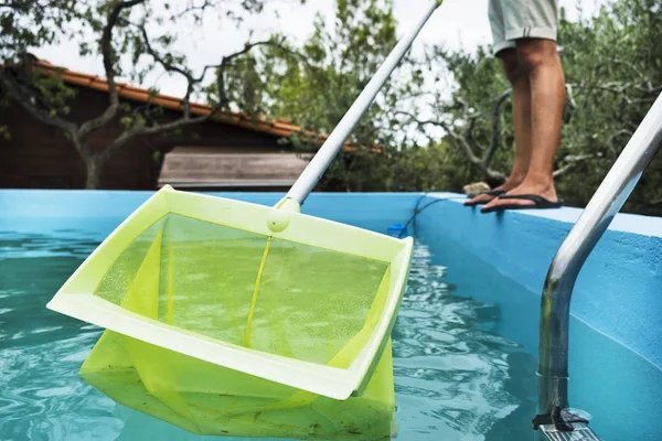
[[[85,121],[108,106],[108,84],[98,76],[72,72],[38,61],[44,72],[62,75],[75,89],[67,119]],[[131,107],[160,106],[160,119],[182,116],[180,98],[151,95],[147,89],[118,84],[121,103]],[[210,107],[193,104],[192,114]],[[83,189],[83,160],[63,130],[32,118],[19,103],[0,107],[0,125],[10,139],[0,137],[0,187]],[[285,120],[254,120],[232,114],[190,126],[178,136],[140,137],[120,148],[105,168],[104,189],[156,190],[164,184],[190,190],[282,191],[307,165],[287,142],[300,129]],[[97,130],[90,146],[102,150],[124,128],[119,118]],[[282,142],[285,140],[285,142]]]

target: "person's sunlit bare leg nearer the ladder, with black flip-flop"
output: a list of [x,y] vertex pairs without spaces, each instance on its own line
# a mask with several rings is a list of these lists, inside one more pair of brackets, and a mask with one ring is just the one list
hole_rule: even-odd
[[[535,194],[552,202],[558,200],[554,187],[554,155],[560,139],[565,78],[556,42],[546,39],[516,41],[517,60],[527,72],[531,86],[531,161],[524,180],[508,192],[512,195]],[[499,205],[527,205],[526,200],[495,198],[483,208]]]

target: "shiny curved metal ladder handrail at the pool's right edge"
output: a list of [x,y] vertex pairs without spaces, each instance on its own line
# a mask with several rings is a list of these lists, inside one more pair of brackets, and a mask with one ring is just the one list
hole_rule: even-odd
[[570,298],[581,267],[626,203],[662,144],[662,95],[609,170],[563,241],[545,279],[541,301],[538,416],[543,440],[599,440],[588,421],[568,409],[568,325]]

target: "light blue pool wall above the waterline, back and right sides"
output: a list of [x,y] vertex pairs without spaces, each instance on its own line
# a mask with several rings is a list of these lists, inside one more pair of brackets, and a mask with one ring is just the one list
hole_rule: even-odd
[[[152,194],[0,190],[0,230],[66,236],[87,228],[107,235]],[[281,193],[212,194],[269,206],[282,197]],[[302,211],[386,233],[394,223],[406,223],[416,207],[435,202],[416,216],[409,233],[415,228],[426,243],[460,244],[540,295],[554,254],[581,211],[481,214],[463,206],[462,200],[451,193],[313,193]],[[476,282],[480,283],[480,275]],[[517,314],[516,305],[511,310]],[[617,215],[579,275],[572,313],[662,367],[662,218]],[[537,323],[537,316],[525,320]],[[520,321],[505,322],[516,326]],[[534,332],[531,345],[536,344]]]

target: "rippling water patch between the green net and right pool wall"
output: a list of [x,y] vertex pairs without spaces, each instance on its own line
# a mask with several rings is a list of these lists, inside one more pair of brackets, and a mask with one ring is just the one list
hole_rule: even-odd
[[[448,268],[434,263],[421,243],[414,249],[409,283],[394,329],[394,375],[401,424],[407,432],[448,440],[484,439],[521,401],[505,388],[508,354],[516,342],[481,331],[495,322],[491,305],[455,294]],[[473,438],[476,437],[476,438]],[[438,438],[439,439],[439,438]]]

